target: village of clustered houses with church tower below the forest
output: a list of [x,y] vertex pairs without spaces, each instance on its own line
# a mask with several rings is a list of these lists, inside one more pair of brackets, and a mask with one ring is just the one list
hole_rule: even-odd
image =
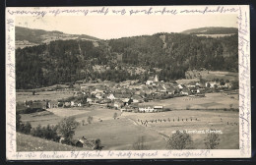
[[[163,100],[173,97],[205,97],[205,93],[226,92],[238,93],[233,90],[234,86],[229,81],[217,80],[215,82],[190,82],[164,83],[159,81],[158,75],[150,77],[145,83],[136,81],[127,81],[124,83],[101,83],[100,85],[87,85],[83,81],[77,81],[72,87],[56,87],[58,91],[69,91],[72,96],[68,98],[54,100],[25,100],[18,102],[18,109],[28,107],[31,109],[51,109],[51,108],[70,108],[84,107],[91,105],[105,106],[109,109],[120,110],[121,112],[161,112],[169,111],[161,104],[146,105],[146,102],[152,100]],[[33,90],[33,94],[39,94]],[[231,96],[231,98],[233,98]]]

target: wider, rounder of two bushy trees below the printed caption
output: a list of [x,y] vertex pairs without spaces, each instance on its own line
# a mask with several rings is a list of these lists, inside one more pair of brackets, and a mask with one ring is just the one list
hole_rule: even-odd
[[167,140],[166,147],[168,149],[189,149],[191,144],[191,137],[187,133],[176,131],[176,133]]

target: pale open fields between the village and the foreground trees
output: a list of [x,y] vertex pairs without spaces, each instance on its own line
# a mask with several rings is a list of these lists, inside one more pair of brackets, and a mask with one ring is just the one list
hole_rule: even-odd
[[[222,93],[208,93],[206,97],[175,97],[171,99],[148,102],[160,104],[172,109],[160,113],[132,113],[107,109],[104,106],[55,108],[44,112],[22,114],[23,122],[56,125],[67,116],[74,116],[80,122],[74,138],[100,138],[104,150],[133,149],[138,138],[145,137],[148,149],[166,149],[166,139],[175,131],[221,131],[220,149],[235,149],[239,144],[239,118],[236,111],[224,111],[224,108],[238,108],[238,100]],[[186,110],[189,106],[190,110]],[[199,110],[197,110],[199,109]],[[221,110],[222,109],[222,110]],[[117,119],[113,114],[117,113]],[[93,116],[92,124],[87,118]],[[86,124],[82,125],[82,120]],[[156,121],[157,120],[157,121]],[[148,123],[145,123],[148,121]],[[206,134],[191,134],[196,149],[205,148]],[[18,146],[19,147],[19,146]],[[20,149],[21,150],[21,149]]]

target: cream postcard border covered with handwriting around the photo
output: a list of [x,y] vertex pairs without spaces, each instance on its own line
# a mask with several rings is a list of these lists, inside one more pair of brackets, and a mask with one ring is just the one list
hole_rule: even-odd
[[[217,150],[114,150],[114,151],[16,151],[16,93],[15,93],[15,17],[16,16],[85,16],[104,15],[92,12],[102,7],[42,7],[6,8],[6,158],[8,160],[46,159],[156,159],[156,158],[247,158],[251,157],[251,95],[250,95],[250,19],[248,5],[233,6],[144,6],[144,7],[105,7],[126,11],[138,10],[136,15],[148,15],[147,11],[165,8],[171,12],[163,15],[214,15],[237,14],[239,29],[239,146],[240,149]],[[76,13],[62,13],[73,9]],[[151,10],[150,10],[151,9]],[[62,12],[61,12],[62,11]],[[122,14],[119,14],[122,15]],[[123,14],[129,15],[129,12]]]

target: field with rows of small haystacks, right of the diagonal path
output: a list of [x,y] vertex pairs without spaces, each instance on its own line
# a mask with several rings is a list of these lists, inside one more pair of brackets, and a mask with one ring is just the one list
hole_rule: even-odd
[[[147,130],[154,130],[158,132],[160,135],[163,135],[163,137],[170,137],[175,131],[179,130],[206,131],[209,129],[215,129],[223,132],[223,134],[220,135],[220,149],[238,148],[238,112],[176,110],[161,113],[124,113],[122,115],[126,118],[132,119],[138,123],[138,125],[145,127]],[[148,121],[147,127],[141,124],[141,121],[145,122],[146,120]],[[152,123],[151,121],[154,122]],[[206,135],[191,134],[191,137],[196,149],[205,147],[203,141]]]

